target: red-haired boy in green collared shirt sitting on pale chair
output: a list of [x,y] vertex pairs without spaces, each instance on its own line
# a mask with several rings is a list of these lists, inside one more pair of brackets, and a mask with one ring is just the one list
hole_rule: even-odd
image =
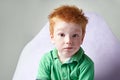
[[37,80],[94,80],[94,63],[80,47],[88,23],[82,10],[60,6],[49,23],[55,48],[41,58]]

